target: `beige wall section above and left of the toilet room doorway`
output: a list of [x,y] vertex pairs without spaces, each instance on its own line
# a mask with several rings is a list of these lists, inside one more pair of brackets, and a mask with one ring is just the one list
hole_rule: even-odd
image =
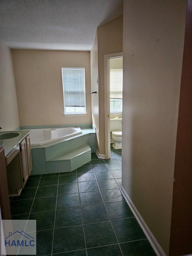
[[99,153],[105,155],[104,55],[123,50],[123,16],[98,27]]

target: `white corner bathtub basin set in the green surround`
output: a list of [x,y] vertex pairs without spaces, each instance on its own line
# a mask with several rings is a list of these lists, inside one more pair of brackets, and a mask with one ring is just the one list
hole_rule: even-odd
[[82,134],[80,127],[31,129],[31,146],[42,146]]

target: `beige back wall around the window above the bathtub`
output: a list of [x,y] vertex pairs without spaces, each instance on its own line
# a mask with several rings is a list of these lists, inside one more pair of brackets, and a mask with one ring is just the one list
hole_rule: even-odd
[[[12,50],[20,125],[91,123],[90,52]],[[85,68],[87,115],[64,117],[62,67]]]

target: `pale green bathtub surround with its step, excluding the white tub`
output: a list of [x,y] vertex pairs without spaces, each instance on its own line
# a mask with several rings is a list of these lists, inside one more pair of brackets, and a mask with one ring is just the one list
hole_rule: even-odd
[[73,137],[32,146],[32,175],[69,172],[89,162],[96,150],[95,127],[81,127],[81,131]]

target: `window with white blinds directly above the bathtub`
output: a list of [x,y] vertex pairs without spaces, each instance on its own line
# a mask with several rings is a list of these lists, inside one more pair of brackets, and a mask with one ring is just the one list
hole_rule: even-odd
[[62,68],[64,114],[86,113],[85,68]]

